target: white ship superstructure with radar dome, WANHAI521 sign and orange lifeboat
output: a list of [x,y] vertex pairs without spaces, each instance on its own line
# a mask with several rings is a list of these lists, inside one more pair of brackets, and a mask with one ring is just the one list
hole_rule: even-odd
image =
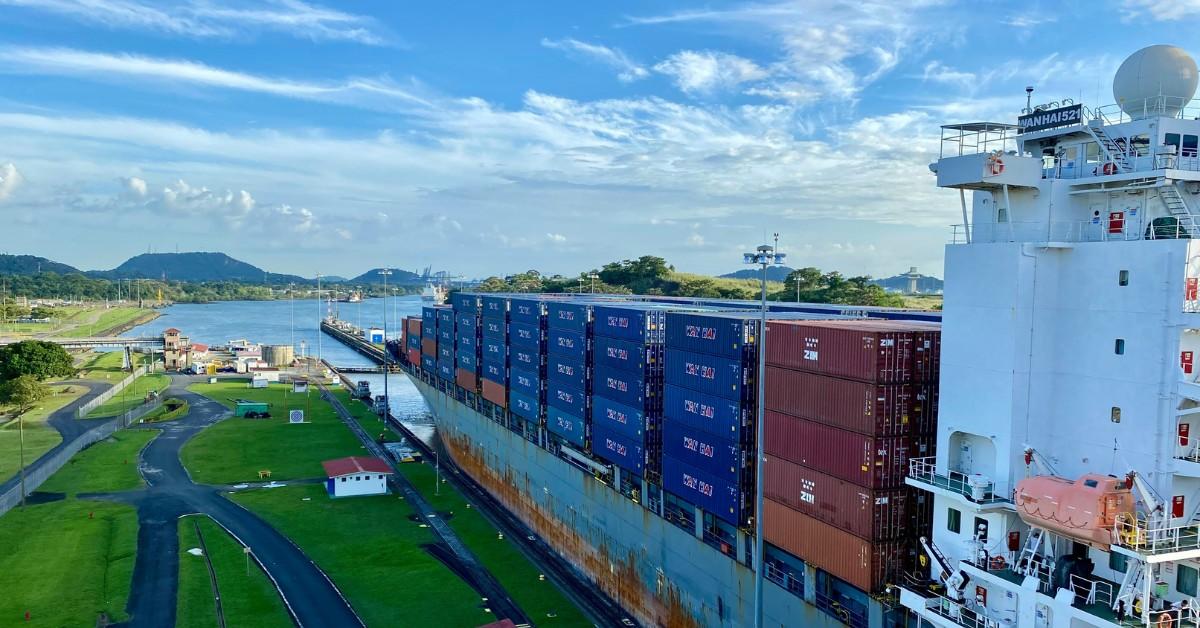
[[1196,65],[1151,47],[1115,85],[943,127],[965,223],[937,455],[907,479],[935,496],[935,586],[898,585],[935,626],[1200,626]]

